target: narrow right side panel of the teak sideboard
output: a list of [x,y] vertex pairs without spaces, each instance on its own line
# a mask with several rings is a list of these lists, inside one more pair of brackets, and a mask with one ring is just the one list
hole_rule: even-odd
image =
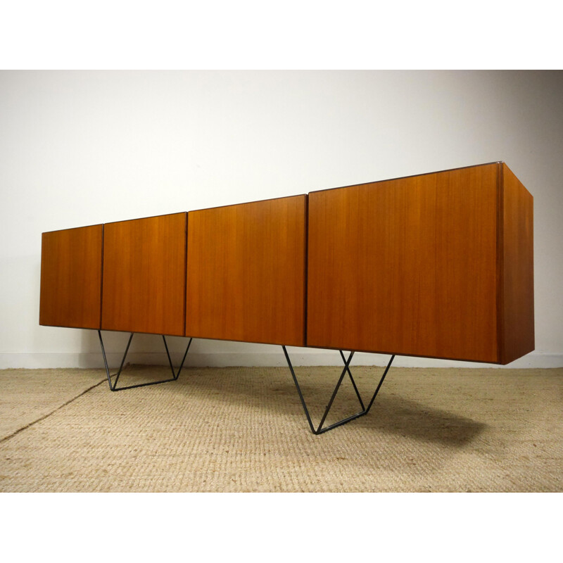
[[535,347],[533,318],[533,197],[502,164],[502,363]]

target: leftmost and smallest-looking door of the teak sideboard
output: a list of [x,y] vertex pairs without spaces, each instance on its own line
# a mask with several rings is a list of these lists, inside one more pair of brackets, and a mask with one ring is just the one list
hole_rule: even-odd
[[39,324],[99,329],[103,226],[42,234]]

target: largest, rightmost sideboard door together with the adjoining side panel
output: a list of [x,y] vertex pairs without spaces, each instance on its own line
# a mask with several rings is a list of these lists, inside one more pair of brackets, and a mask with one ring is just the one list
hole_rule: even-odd
[[505,163],[309,194],[308,346],[533,350],[533,200]]

